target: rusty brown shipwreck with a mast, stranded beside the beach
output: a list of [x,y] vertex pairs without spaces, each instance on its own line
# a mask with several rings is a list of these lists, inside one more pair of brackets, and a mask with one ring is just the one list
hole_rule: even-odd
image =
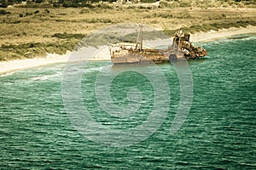
[[143,48],[143,28],[137,35],[136,43],[120,42],[110,44],[109,51],[113,64],[154,62],[164,63],[170,60],[199,59],[207,55],[207,50],[193,46],[190,34],[182,30],[175,33],[172,44],[164,49]]

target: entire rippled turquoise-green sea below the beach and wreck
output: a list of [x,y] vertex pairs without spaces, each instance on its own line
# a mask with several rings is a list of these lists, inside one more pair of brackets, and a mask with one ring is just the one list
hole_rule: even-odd
[[189,62],[1,75],[0,168],[256,169],[255,44],[238,35],[196,43],[208,55]]

